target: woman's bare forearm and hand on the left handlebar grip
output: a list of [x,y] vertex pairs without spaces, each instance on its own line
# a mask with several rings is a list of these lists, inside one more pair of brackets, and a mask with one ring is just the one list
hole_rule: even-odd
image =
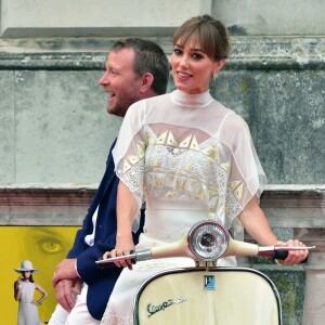
[[[139,209],[138,203],[127,185],[119,182],[117,190],[117,233],[116,233],[116,246],[110,252],[106,252],[104,258],[122,256],[130,253],[134,250],[134,244],[132,238],[132,223],[134,216]],[[130,260],[122,260],[115,263],[117,266],[129,268],[132,270],[132,263]]]

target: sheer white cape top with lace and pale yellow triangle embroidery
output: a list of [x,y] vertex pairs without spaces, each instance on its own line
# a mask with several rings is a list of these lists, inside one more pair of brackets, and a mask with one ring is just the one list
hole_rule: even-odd
[[235,233],[238,213],[266,183],[247,123],[209,92],[180,90],[133,104],[113,152],[116,173],[146,199],[204,205],[207,219]]

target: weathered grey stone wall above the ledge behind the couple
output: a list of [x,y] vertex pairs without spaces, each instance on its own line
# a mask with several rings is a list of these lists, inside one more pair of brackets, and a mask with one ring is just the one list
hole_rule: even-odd
[[[53,3],[1,1],[1,185],[98,183],[120,125],[106,114],[106,96],[98,84],[114,28],[130,24],[133,30],[146,22],[139,35],[156,40],[170,55],[174,27],[203,12],[220,17],[233,40],[231,58],[211,92],[249,123],[270,183],[324,183],[324,2],[186,1],[182,6],[179,1],[128,1],[143,20],[130,15],[127,21],[115,16],[131,9],[114,1],[95,6],[69,1],[69,14],[63,16],[55,13],[67,4]],[[171,18],[170,5],[182,14]],[[83,10],[77,13],[75,6]],[[86,10],[98,21],[86,18]]]

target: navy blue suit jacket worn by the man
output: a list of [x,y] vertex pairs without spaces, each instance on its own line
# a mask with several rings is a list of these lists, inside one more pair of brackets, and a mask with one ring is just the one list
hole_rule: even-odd
[[[91,202],[88,213],[83,220],[82,229],[77,232],[73,248],[67,258],[77,258],[77,271],[81,280],[88,285],[87,307],[95,320],[101,320],[114,285],[121,272],[121,268],[99,269],[95,261],[102,258],[103,253],[112,250],[116,243],[116,197],[119,179],[114,172],[114,160],[112,150],[106,161],[106,171],[102,182]],[[84,243],[84,236],[93,231],[92,216],[98,211],[94,245]],[[134,244],[143,229],[143,211],[139,231],[133,234]]]

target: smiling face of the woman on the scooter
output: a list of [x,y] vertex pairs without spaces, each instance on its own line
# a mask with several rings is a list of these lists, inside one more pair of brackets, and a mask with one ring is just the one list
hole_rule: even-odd
[[219,72],[224,61],[216,62],[200,50],[200,43],[190,39],[184,47],[174,44],[171,67],[174,84],[190,94],[206,92],[211,76]]

